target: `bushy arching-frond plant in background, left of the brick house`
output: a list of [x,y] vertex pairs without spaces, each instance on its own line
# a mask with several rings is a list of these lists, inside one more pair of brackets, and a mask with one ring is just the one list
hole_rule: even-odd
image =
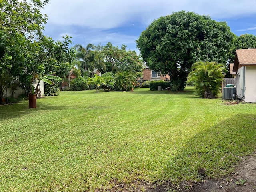
[[136,74],[128,71],[116,73],[116,90],[130,91],[136,85]]

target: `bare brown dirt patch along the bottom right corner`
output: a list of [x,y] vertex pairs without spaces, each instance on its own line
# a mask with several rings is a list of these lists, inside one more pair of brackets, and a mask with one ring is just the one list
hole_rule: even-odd
[[132,186],[116,184],[111,192],[256,192],[256,153],[245,157],[235,172],[217,180],[204,182],[182,182],[180,186],[162,184],[152,186],[143,182],[134,181]]

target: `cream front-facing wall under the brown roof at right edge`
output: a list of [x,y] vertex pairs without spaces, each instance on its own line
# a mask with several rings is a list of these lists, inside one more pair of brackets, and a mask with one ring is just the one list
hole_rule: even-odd
[[244,101],[249,103],[256,102],[256,66],[246,66],[245,78],[245,97]]

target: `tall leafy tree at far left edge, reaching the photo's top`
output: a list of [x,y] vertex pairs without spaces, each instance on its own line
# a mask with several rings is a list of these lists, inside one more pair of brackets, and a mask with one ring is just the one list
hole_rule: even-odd
[[48,0],[0,1],[0,76],[18,79],[26,85],[31,83],[30,75],[35,70],[43,70],[36,62],[38,44],[34,40],[43,36],[47,18],[40,10],[47,3]]

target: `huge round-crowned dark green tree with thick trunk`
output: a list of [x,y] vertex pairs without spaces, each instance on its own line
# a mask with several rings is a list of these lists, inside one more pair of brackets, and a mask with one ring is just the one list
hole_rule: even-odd
[[183,90],[194,62],[228,60],[234,36],[226,22],[180,11],[154,20],[136,43],[147,66]]

